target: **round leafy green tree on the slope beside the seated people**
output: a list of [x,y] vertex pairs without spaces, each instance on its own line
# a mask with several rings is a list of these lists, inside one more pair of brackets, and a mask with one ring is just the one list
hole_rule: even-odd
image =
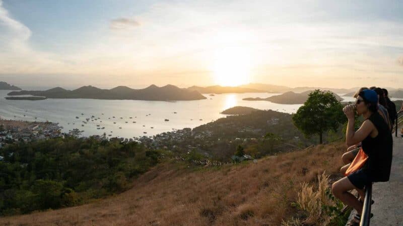
[[346,121],[343,105],[329,91],[314,90],[295,115],[294,125],[307,137],[319,135],[322,144],[324,132],[337,131],[340,124]]

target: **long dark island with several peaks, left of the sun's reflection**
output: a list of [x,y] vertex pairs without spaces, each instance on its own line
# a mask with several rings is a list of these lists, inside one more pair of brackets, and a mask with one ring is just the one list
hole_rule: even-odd
[[61,87],[55,87],[44,91],[12,91],[10,96],[32,95],[46,98],[86,98],[86,99],[132,99],[132,100],[198,100],[207,99],[198,91],[188,90],[186,88],[178,88],[174,85],[165,85],[158,87],[150,85],[144,89],[132,89],[127,86],[117,86],[112,89],[100,89],[94,86],[83,86],[74,90],[66,90]]

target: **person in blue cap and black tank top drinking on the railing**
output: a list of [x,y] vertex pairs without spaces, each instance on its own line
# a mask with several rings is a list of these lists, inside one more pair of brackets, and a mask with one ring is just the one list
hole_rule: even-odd
[[[356,132],[354,132],[354,108],[358,115],[364,117],[363,124]],[[358,214],[353,217],[349,225],[359,225],[363,203],[348,191],[356,189],[363,200],[365,185],[389,180],[392,136],[387,124],[378,113],[378,96],[374,90],[361,91],[356,103],[347,105],[343,111],[348,119],[347,146],[361,142],[368,160],[362,169],[334,182],[331,189],[335,197],[357,210]]]

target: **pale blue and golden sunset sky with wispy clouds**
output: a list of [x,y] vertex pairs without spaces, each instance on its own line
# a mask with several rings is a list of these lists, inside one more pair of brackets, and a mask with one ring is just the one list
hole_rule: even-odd
[[403,1],[0,0],[0,81],[403,88]]

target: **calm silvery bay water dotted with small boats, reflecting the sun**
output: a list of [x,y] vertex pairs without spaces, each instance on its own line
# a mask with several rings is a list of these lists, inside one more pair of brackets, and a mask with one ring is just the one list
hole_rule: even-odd
[[[111,134],[112,137],[124,138],[153,136],[173,129],[194,128],[226,117],[220,112],[233,106],[293,113],[302,105],[242,100],[246,97],[266,98],[278,95],[276,93],[227,93],[215,94],[215,96],[203,94],[207,99],[166,102],[98,99],[7,100],[4,97],[8,92],[10,91],[0,90],[0,117],[2,118],[57,122],[64,128],[62,132],[79,129],[84,130],[83,136],[106,133]],[[352,97],[346,98],[346,101],[354,100]],[[97,121],[90,120],[84,124],[83,121],[86,122],[85,119],[91,116],[94,116]],[[166,122],[165,119],[169,121]],[[98,130],[97,125],[105,129]]]

